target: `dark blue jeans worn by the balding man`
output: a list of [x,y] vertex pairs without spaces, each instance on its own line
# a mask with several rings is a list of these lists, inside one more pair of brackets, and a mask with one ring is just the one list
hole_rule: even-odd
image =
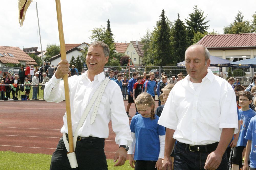
[[[210,153],[211,152],[191,152],[177,142],[174,150],[174,169],[204,169],[205,161]],[[217,169],[228,170],[226,152],[223,154],[222,161]]]

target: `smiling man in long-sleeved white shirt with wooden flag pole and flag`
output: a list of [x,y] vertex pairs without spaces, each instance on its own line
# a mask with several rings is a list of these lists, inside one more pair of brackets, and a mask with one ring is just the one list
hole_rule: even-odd
[[[21,25],[31,2],[18,1]],[[121,91],[115,82],[109,81],[104,75],[109,47],[102,41],[91,43],[86,56],[88,70],[80,76],[70,77],[68,83],[69,64],[66,60],[60,0],[56,0],[56,10],[62,60],[54,76],[46,83],[44,98],[48,102],[65,100],[66,114],[61,128],[63,137],[52,156],[50,169],[107,169],[104,140],[109,135],[110,120],[116,133],[115,141],[119,145],[114,156],[114,162],[118,162],[114,166],[121,166],[125,163],[127,146],[132,138],[124,103],[120,103]]]

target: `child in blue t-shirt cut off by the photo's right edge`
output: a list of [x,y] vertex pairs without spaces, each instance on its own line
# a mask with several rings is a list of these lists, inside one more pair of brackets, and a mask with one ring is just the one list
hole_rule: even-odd
[[[253,99],[253,105],[256,106],[256,99]],[[248,125],[245,137],[248,141],[244,154],[243,170],[256,169],[256,117],[253,117]],[[248,164],[250,157],[250,166]],[[250,168],[249,168],[250,167]]]

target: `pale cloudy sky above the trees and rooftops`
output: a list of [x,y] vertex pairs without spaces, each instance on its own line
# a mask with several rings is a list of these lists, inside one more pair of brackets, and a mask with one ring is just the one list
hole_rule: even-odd
[[[159,20],[162,9],[165,9],[169,20],[174,21],[180,14],[185,20],[197,5],[207,15],[210,28],[208,31],[223,33],[223,27],[233,22],[238,10],[244,20],[251,20],[255,13],[256,1],[61,1],[65,43],[90,43],[90,35],[95,27],[106,27],[109,19],[115,42],[140,40],[147,29],[153,30]],[[18,46],[21,49],[36,47],[40,49],[36,1],[29,6],[23,27],[19,26],[17,0],[1,1],[0,13],[0,46]],[[47,44],[59,44],[58,25],[55,1],[37,0],[42,48]]]

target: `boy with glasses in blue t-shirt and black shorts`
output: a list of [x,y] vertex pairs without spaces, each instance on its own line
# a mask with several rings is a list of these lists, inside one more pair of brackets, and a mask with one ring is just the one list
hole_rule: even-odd
[[239,95],[239,109],[240,115],[240,134],[237,141],[237,146],[234,148],[234,155],[232,160],[232,170],[238,170],[242,167],[242,152],[247,144],[245,139],[248,124],[252,117],[255,116],[255,112],[249,107],[252,103],[252,94],[248,91],[244,91]]

